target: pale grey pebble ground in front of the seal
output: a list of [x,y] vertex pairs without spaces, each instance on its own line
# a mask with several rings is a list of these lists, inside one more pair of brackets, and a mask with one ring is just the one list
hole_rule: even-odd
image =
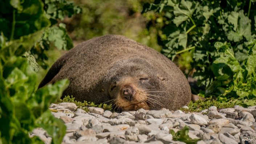
[[[184,107],[186,108],[186,106]],[[144,110],[112,113],[89,107],[89,113],[74,103],[51,104],[52,115],[66,125],[62,144],[185,144],[174,141],[169,131],[188,126],[188,136],[197,144],[256,144],[256,106],[183,113],[180,110]],[[46,144],[52,138],[41,129],[31,132]]]

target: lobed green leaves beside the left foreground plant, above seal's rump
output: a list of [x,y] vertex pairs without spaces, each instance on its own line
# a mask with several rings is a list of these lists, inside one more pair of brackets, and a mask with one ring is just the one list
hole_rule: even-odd
[[36,58],[43,69],[47,69],[48,64],[45,60],[48,60],[48,55],[45,53],[46,50],[49,50],[51,46],[55,46],[58,50],[73,48],[73,42],[68,36],[66,25],[60,21],[64,20],[66,16],[71,17],[82,11],[80,7],[68,0],[43,0],[43,2],[45,15],[51,24],[49,28],[45,29],[44,34],[29,53]]

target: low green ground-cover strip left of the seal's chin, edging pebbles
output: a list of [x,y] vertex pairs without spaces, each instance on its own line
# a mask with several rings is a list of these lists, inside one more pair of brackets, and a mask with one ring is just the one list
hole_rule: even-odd
[[64,103],[64,102],[70,102],[70,103],[75,103],[77,105],[77,108],[81,108],[85,111],[89,111],[88,107],[99,107],[103,108],[104,110],[109,110],[112,111],[112,104],[105,104],[105,103],[100,103],[100,104],[95,104],[94,102],[87,102],[84,100],[84,102],[78,102],[75,100],[73,96],[65,96],[63,99],[58,99],[56,104],[59,103]]

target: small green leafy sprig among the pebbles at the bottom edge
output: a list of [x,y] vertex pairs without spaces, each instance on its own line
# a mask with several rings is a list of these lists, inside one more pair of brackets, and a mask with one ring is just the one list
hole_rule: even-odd
[[183,129],[176,133],[171,129],[170,134],[172,135],[172,139],[175,141],[182,141],[186,144],[196,144],[200,139],[191,139],[191,137],[188,136],[188,129],[188,126],[185,126]]

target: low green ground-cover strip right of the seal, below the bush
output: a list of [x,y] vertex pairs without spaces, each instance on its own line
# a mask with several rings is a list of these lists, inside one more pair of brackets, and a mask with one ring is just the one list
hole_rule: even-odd
[[202,110],[208,109],[211,106],[216,106],[218,109],[219,108],[230,108],[234,107],[235,104],[233,102],[225,102],[221,103],[216,100],[211,100],[211,98],[207,98],[206,100],[199,99],[195,103],[192,101],[188,104],[188,109],[187,108],[180,108],[180,110],[184,112],[200,112]]

